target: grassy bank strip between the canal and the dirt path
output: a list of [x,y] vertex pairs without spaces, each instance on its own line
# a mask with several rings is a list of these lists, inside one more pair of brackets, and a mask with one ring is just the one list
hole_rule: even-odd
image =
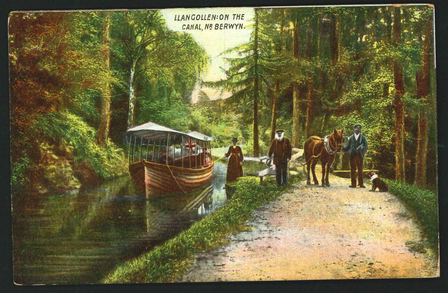
[[255,177],[243,177],[231,183],[227,191],[232,195],[232,200],[227,205],[149,253],[123,263],[102,283],[175,281],[190,266],[195,253],[224,244],[227,235],[243,228],[254,209],[298,181],[297,177],[291,177],[288,186],[278,188],[273,179],[268,178],[262,186]]

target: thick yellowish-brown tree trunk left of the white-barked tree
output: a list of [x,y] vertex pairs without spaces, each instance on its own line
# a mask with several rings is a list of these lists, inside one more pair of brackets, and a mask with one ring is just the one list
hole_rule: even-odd
[[[111,39],[111,13],[106,12],[106,18],[103,26],[103,71],[106,74],[111,72],[111,51],[110,51],[110,39]],[[101,100],[101,116],[100,125],[98,127],[97,143],[100,146],[106,146],[109,136],[109,127],[111,125],[111,103],[112,103],[112,90],[109,79],[106,78],[103,85],[103,98]]]

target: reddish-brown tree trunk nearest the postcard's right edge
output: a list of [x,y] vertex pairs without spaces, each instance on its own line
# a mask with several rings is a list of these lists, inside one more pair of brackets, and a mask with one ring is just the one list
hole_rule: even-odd
[[419,122],[417,133],[417,151],[415,154],[415,184],[419,187],[426,187],[426,169],[428,153],[428,105],[430,103],[431,91],[431,52],[430,40],[432,39],[432,21],[427,23],[425,43],[423,46],[423,65],[416,75],[417,98],[425,99],[425,107],[419,109]]

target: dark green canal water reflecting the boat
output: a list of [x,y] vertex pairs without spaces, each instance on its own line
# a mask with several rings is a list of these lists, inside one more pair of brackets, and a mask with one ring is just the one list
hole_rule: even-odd
[[226,165],[189,195],[146,200],[129,176],[76,193],[13,199],[17,284],[98,283],[119,263],[174,237],[226,203]]

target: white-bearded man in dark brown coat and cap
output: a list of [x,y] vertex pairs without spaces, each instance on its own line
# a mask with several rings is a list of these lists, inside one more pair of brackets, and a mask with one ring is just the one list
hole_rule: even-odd
[[277,185],[288,183],[288,162],[291,160],[292,147],[290,140],[284,136],[283,130],[275,132],[275,139],[272,140],[269,147],[268,156],[274,153],[275,179]]

